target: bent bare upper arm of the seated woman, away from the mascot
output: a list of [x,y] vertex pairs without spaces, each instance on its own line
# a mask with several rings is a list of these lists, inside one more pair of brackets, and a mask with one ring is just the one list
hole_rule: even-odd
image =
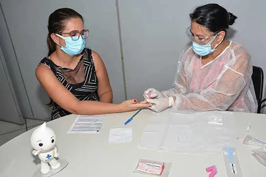
[[98,95],[100,102],[111,103],[112,102],[112,89],[105,65],[96,52],[92,51],[93,61],[96,70],[96,76],[98,78]]

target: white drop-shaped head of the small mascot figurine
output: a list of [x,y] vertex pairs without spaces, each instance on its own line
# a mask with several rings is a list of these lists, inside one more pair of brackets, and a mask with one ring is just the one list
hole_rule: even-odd
[[46,126],[46,122],[37,127],[31,135],[30,142],[33,149],[46,152],[55,146],[55,132]]

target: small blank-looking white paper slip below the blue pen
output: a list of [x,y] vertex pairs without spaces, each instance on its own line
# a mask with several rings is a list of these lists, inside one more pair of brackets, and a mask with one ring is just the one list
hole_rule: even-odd
[[109,143],[131,142],[132,128],[112,128],[109,134]]

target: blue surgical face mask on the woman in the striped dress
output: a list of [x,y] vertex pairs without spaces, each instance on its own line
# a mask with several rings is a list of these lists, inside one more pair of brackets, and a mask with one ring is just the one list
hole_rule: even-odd
[[80,36],[78,40],[72,40],[71,37],[64,37],[59,34],[55,35],[65,40],[65,47],[60,45],[59,46],[61,47],[62,51],[64,51],[66,54],[70,56],[80,54],[85,48],[85,39],[83,39],[82,36]]

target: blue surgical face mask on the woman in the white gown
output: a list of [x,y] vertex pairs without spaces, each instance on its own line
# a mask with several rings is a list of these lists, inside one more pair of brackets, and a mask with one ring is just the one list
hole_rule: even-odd
[[193,51],[196,54],[198,54],[199,56],[206,56],[206,55],[213,53],[214,51],[216,51],[215,48],[221,43],[221,42],[219,42],[213,49],[211,49],[211,43],[214,41],[216,36],[217,35],[215,35],[214,38],[209,43],[207,43],[206,45],[199,45],[198,43],[193,41],[192,42]]

